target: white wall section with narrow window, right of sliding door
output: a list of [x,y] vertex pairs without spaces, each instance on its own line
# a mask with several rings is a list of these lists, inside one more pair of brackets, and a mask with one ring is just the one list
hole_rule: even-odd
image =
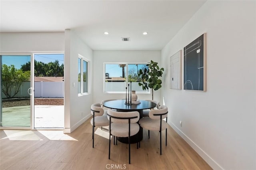
[[[65,30],[65,133],[72,132],[91,116],[92,93],[78,97],[78,54],[89,60],[88,82],[90,82],[92,88],[92,49],[78,38],[72,30]],[[75,87],[73,87],[73,82]]]

